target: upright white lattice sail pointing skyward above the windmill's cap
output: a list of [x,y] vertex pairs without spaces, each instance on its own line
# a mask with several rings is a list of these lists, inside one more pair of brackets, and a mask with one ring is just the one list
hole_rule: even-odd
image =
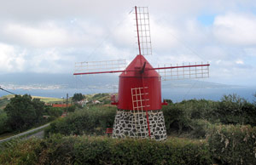
[[135,26],[137,26],[137,41],[139,54],[151,55],[152,46],[148,7],[135,7],[134,11],[134,14],[136,15]]

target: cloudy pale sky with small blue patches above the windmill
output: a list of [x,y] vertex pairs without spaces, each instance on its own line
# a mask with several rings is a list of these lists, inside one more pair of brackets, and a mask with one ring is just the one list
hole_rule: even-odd
[[68,73],[75,62],[131,61],[135,5],[148,7],[154,65],[210,63],[206,81],[255,86],[254,0],[0,0],[0,74]]

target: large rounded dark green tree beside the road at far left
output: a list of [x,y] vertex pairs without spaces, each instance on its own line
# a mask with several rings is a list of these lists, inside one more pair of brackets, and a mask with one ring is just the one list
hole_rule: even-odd
[[7,124],[13,129],[29,128],[43,120],[44,102],[33,99],[28,94],[15,95],[4,108]]

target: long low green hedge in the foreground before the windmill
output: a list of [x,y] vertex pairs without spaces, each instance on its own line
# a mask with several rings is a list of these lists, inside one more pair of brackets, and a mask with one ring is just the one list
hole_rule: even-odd
[[111,139],[55,135],[29,139],[3,151],[1,164],[212,164],[204,141]]

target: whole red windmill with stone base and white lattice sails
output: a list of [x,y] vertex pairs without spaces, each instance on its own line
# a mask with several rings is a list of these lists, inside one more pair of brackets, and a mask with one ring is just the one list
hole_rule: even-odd
[[[168,65],[154,68],[144,55],[152,54],[148,8],[135,7],[139,54],[125,68],[125,60],[79,62],[73,75],[116,73],[119,75],[119,99],[113,125],[114,138],[166,139],[161,102],[161,76],[172,79],[209,77],[209,64]],[[159,72],[157,72],[159,71]],[[160,76],[161,75],[161,76]]]

